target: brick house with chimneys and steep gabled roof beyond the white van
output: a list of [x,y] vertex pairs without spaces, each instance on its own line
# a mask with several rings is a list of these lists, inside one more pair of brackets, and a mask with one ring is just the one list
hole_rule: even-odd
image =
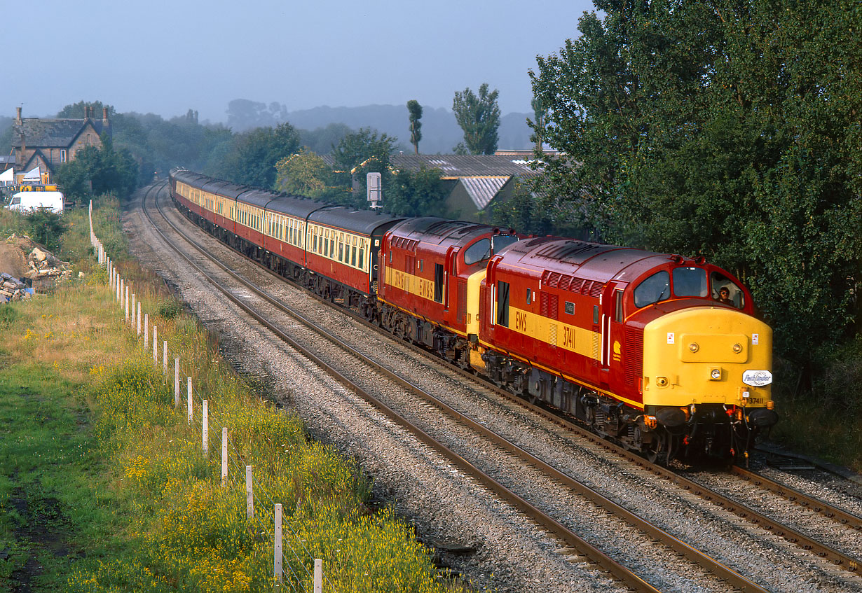
[[108,109],[102,119],[93,116],[93,108],[84,107],[84,119],[41,119],[21,116],[16,108],[12,124],[12,155],[15,157],[16,182],[22,182],[28,171],[39,167],[41,182],[53,183],[53,174],[61,164],[75,159],[86,146],[102,147],[102,134],[110,136]]

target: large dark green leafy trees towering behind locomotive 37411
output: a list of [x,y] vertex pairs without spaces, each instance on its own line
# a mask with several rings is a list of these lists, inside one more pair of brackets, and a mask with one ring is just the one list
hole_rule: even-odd
[[859,3],[597,0],[538,59],[535,189],[609,241],[744,276],[781,353],[853,330],[862,248]]

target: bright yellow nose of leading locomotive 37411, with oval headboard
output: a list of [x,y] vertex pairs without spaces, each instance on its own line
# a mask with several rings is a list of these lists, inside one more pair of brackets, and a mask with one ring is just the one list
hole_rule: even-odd
[[771,405],[772,330],[743,312],[694,307],[644,328],[644,405]]

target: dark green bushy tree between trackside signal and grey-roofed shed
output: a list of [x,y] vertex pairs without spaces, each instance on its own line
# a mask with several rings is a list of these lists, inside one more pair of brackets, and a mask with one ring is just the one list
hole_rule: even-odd
[[395,216],[444,216],[447,188],[443,171],[422,165],[418,171],[398,171],[384,188],[384,211]]

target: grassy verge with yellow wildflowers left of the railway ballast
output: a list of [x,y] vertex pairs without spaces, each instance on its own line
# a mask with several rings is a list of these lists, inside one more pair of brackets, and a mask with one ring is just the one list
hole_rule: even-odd
[[[101,209],[99,226],[115,225],[116,201]],[[88,236],[81,218],[67,233],[67,252],[89,249],[73,237]],[[309,441],[298,417],[251,392],[163,283],[122,255],[116,260],[158,324],[159,361],[167,340],[192,377],[194,421],[186,421],[184,397],[174,408],[172,380],[166,384],[152,350],[141,347],[102,269],[81,261],[83,279],[0,309],[0,590],[278,589],[277,502],[284,590],[311,590],[315,558],[323,559],[328,591],[462,590],[436,577],[409,525],[368,510],[370,485],[358,466]],[[201,398],[209,404],[209,454]],[[226,485],[222,426],[231,442]]]

